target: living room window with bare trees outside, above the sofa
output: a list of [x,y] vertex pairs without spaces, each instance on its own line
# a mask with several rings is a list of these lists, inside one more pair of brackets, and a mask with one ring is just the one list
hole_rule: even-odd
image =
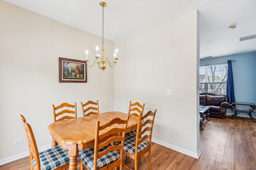
[[200,66],[199,92],[226,95],[227,64]]

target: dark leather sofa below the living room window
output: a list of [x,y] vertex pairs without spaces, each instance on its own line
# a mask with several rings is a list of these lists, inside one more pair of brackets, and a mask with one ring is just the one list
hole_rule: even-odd
[[200,93],[200,106],[209,107],[209,115],[226,117],[226,108],[230,107],[228,97],[222,94]]

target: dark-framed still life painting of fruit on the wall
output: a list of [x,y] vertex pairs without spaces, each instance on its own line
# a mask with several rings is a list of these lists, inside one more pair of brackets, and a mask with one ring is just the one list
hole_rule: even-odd
[[59,82],[87,82],[86,61],[59,57]]

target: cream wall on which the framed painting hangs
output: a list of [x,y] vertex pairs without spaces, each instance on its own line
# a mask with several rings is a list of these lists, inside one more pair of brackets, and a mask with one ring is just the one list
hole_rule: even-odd
[[[99,100],[100,112],[114,109],[114,69],[88,68],[87,83],[59,83],[58,57],[90,61],[102,38],[0,1],[0,160],[28,151],[20,114],[31,124],[38,147],[51,144],[47,126],[52,104]],[[105,56],[114,43],[104,41]],[[14,140],[24,143],[14,145]]]

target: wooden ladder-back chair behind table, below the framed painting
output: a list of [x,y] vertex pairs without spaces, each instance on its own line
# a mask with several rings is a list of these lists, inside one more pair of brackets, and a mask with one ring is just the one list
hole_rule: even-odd
[[54,122],[76,118],[76,102],[74,105],[68,104],[68,103],[62,103],[57,107],[52,105],[52,111],[53,111]]

